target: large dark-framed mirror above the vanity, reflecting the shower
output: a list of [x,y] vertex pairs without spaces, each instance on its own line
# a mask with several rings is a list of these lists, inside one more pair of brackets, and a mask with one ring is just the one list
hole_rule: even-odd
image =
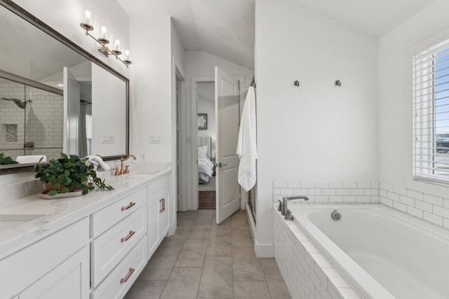
[[129,80],[10,0],[0,0],[0,153],[29,171],[29,155],[129,151]]

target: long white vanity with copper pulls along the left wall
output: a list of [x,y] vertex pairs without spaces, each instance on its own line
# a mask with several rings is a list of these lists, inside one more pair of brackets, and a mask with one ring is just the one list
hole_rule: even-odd
[[89,194],[86,207],[55,201],[67,214],[21,231],[22,242],[0,252],[0,299],[123,298],[169,231],[170,172],[123,186]]

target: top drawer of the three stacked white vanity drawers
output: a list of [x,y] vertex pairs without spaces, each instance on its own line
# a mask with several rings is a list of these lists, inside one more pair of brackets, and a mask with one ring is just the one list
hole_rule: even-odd
[[141,188],[121,200],[91,214],[91,237],[98,237],[147,201],[147,188]]

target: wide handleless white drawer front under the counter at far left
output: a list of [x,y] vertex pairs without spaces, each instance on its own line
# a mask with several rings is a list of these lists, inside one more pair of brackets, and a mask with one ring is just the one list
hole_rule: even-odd
[[88,243],[89,221],[86,217],[0,260],[2,298],[17,294]]

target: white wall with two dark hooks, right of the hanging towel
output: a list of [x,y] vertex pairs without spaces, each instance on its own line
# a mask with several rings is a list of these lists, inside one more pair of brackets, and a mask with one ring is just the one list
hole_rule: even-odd
[[255,19],[255,245],[272,256],[274,181],[377,181],[377,41],[287,1]]

